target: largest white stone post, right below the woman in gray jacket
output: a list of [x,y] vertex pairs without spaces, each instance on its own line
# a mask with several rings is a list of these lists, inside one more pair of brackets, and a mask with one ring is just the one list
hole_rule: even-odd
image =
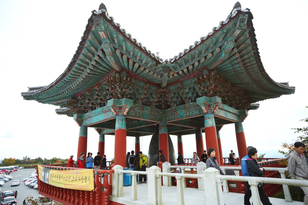
[[[199,163],[198,163],[199,164]],[[219,204],[217,175],[219,171],[213,167],[203,171],[205,205]]]

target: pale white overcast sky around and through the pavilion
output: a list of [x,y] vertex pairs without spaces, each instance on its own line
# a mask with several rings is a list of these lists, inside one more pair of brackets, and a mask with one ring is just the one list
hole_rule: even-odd
[[[225,21],[236,1],[105,1],[109,16],[138,42],[169,59]],[[76,154],[79,127],[72,117],[55,113],[54,105],[25,101],[27,86],[53,82],[71,61],[91,16],[101,1],[0,1],[1,100],[0,159],[61,157]],[[246,142],[267,157],[303,127],[307,102],[308,1],[241,1],[254,16],[261,61],[278,82],[289,81],[295,94],[259,102],[243,122]],[[203,133],[203,136],[204,133]],[[223,156],[237,152],[234,124],[220,132]],[[177,152],[176,136],[171,136]],[[88,129],[88,152],[94,155],[99,135]],[[151,136],[140,138],[148,152]],[[204,147],[205,139],[204,140]],[[114,136],[105,136],[107,160],[114,156]],[[127,150],[134,148],[127,137]],[[195,136],[183,136],[184,157],[196,151]],[[76,157],[74,157],[76,159]]]

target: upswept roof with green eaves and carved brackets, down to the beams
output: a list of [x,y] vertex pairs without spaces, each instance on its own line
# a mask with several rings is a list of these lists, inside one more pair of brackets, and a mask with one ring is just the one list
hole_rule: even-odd
[[225,104],[256,109],[255,102],[292,94],[295,87],[275,82],[265,72],[252,19],[249,9],[236,8],[207,36],[163,62],[121,29],[106,9],[93,10],[66,70],[50,85],[29,88],[22,97],[69,108],[56,111],[68,116],[123,97],[164,109],[217,95]]

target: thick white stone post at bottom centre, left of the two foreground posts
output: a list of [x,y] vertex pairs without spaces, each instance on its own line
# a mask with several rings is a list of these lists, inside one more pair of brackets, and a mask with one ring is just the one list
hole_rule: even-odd
[[[159,195],[161,195],[160,193],[157,193],[159,188],[157,188],[158,185],[157,184],[157,177],[156,174],[160,172],[160,168],[156,167],[156,166],[152,166],[150,168],[148,168],[148,204],[149,205],[160,205],[159,204]],[[160,189],[161,191],[161,189]]]

